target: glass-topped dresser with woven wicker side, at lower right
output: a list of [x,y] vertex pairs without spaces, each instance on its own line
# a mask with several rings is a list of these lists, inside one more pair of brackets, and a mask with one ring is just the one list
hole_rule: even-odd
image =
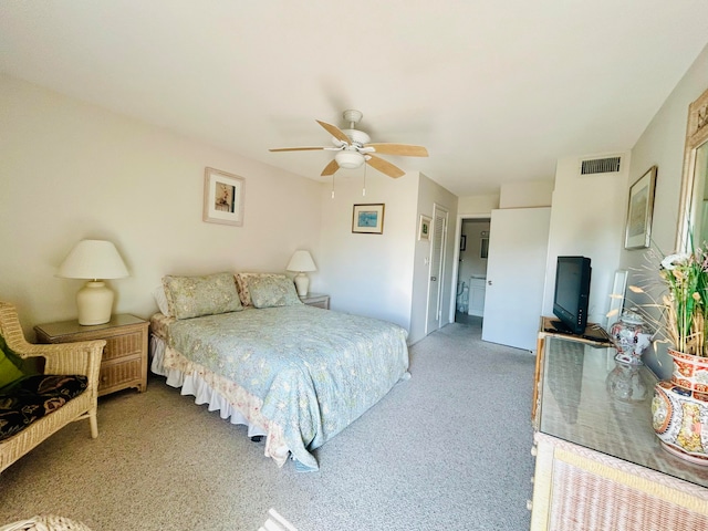
[[708,467],[664,450],[656,377],[583,337],[540,333],[532,530],[708,529]]

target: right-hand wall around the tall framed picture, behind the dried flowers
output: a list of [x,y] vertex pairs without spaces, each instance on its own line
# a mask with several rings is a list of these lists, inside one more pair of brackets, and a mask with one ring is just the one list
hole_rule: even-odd
[[[652,166],[658,167],[652,240],[653,246],[664,253],[673,252],[676,248],[688,105],[706,88],[708,88],[708,46],[676,85],[632,150],[632,167],[625,181],[625,196],[632,183],[642,177]],[[621,249],[621,267],[629,269],[629,283],[637,283],[639,280],[635,271],[646,271],[645,257],[644,250]],[[633,298],[631,292],[627,296]],[[649,350],[644,354],[644,361],[659,377],[666,378],[670,375],[671,362],[664,348],[657,353]]]

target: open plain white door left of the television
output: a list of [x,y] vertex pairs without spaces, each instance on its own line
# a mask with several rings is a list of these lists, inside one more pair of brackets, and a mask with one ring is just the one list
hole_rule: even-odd
[[532,351],[543,308],[550,208],[492,210],[482,340]]

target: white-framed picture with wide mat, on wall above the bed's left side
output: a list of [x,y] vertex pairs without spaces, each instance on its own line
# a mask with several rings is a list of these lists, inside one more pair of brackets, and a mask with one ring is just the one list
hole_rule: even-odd
[[246,179],[214,168],[204,173],[204,220],[209,223],[243,225]]

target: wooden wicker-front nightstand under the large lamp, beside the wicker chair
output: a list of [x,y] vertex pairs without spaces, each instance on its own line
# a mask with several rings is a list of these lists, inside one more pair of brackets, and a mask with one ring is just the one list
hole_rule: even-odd
[[143,392],[147,387],[147,327],[134,315],[113,315],[105,324],[82,326],[77,321],[38,324],[40,343],[71,343],[106,340],[101,360],[98,396],[127,387]]

